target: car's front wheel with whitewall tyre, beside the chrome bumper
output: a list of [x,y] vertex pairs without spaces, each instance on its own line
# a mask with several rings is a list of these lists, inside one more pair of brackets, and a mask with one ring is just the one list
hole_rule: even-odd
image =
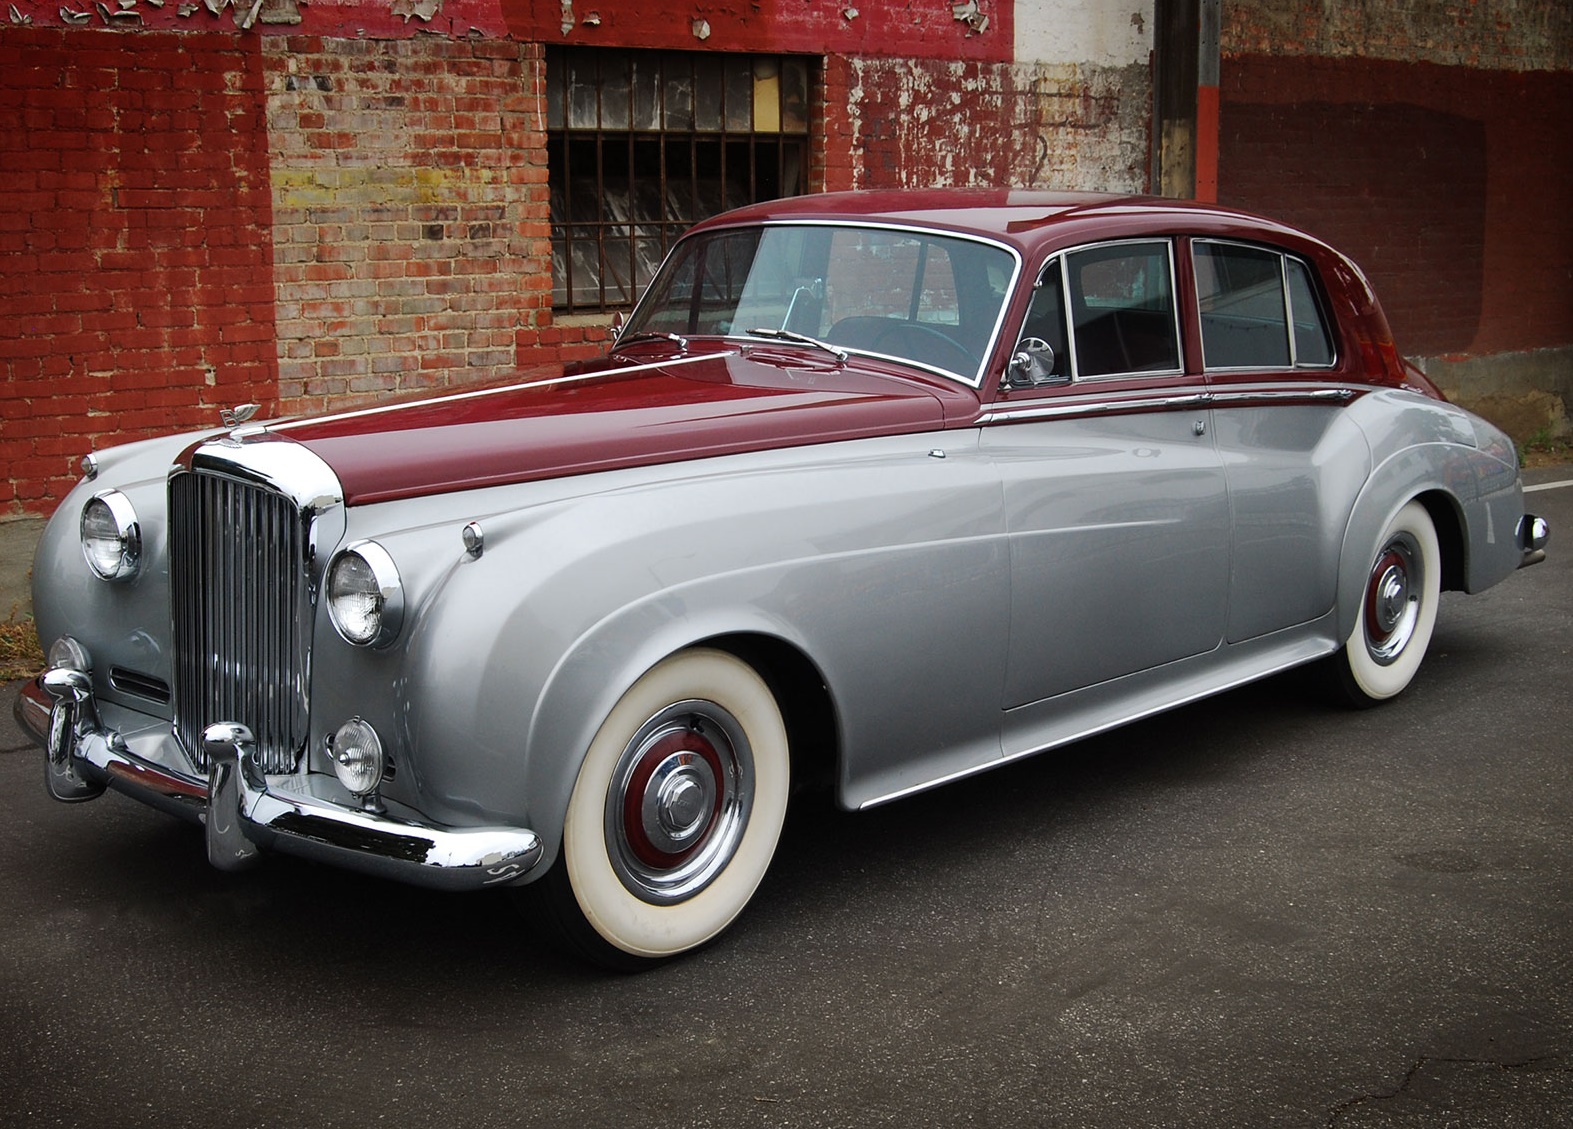
[[601,725],[568,800],[562,855],[524,893],[596,964],[640,969],[686,953],[753,896],[790,783],[786,726],[764,681],[724,651],[681,651]]

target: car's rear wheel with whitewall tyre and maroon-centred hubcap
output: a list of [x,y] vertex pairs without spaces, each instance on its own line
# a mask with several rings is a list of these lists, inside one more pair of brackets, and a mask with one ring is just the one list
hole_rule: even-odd
[[1424,505],[1409,502],[1381,535],[1354,632],[1331,659],[1345,701],[1372,706],[1409,684],[1431,642],[1441,587],[1436,525]]

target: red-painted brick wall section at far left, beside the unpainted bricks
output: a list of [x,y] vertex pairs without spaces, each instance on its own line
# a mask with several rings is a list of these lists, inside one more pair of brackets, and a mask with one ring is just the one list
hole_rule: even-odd
[[0,30],[0,514],[277,390],[256,41]]

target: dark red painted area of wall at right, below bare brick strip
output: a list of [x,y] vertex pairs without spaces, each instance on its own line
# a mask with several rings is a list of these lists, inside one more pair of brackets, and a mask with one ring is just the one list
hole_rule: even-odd
[[1365,269],[1400,349],[1573,344],[1573,74],[1224,60],[1219,197]]

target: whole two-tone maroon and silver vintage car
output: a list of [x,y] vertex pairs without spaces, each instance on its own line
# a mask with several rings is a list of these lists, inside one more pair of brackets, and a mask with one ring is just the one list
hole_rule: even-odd
[[815,195],[695,226],[609,355],[85,461],[38,549],[50,793],[518,887],[642,967],[846,808],[1320,664],[1414,678],[1543,557],[1515,448],[1317,239],[1164,200]]

